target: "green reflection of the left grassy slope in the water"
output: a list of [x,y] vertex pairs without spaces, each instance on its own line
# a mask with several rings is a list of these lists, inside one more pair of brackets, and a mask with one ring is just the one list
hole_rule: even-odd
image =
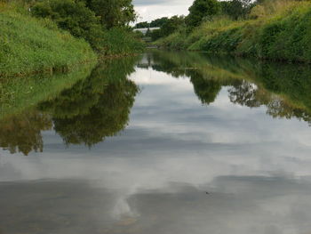
[[8,77],[1,79],[0,119],[31,109],[39,101],[52,99],[63,89],[68,89],[77,81],[88,77],[96,61],[78,65],[69,73],[39,73],[27,77]]

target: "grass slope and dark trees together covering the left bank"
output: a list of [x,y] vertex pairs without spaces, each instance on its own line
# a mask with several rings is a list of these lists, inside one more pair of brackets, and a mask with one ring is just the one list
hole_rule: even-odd
[[0,77],[68,71],[144,48],[128,27],[131,0],[0,0],[0,12]]

